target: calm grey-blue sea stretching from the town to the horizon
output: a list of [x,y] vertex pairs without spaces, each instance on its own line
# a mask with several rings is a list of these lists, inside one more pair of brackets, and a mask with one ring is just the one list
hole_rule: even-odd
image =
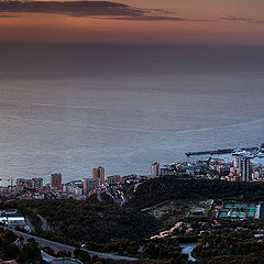
[[1,44],[0,178],[147,175],[264,143],[257,46]]

